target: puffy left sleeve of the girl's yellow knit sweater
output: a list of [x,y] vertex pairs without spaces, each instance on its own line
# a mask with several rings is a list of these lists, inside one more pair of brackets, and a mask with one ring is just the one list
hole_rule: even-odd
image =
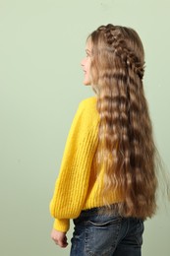
[[[84,102],[84,101],[83,101]],[[69,229],[69,220],[77,218],[84,206],[93,156],[97,147],[96,114],[81,103],[75,115],[50,203],[54,228]]]

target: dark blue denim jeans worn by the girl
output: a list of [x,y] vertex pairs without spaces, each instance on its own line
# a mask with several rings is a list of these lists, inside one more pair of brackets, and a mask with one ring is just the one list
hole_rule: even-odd
[[143,222],[135,218],[83,211],[74,220],[70,256],[141,256]]

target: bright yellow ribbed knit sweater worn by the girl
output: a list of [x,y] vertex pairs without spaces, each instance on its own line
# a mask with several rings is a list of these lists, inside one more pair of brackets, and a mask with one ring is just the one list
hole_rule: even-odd
[[[96,97],[86,98],[73,120],[50,203],[50,213],[55,218],[53,227],[57,230],[67,231],[70,219],[78,218],[82,210],[104,205],[103,171],[96,179],[92,164],[98,143],[98,124]],[[121,196],[110,191],[106,200],[113,204],[121,201]]]

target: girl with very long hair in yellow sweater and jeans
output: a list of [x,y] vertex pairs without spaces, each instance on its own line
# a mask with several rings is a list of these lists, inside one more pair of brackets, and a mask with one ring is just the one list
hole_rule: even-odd
[[50,204],[52,239],[71,256],[140,256],[143,221],[155,214],[155,146],[137,32],[101,26],[86,40],[83,100],[67,140]]

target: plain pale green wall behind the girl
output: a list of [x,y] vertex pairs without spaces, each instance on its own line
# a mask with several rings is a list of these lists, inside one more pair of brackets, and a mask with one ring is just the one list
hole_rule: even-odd
[[[1,256],[69,255],[50,239],[48,205],[78,103],[93,95],[80,62],[98,26],[140,33],[145,94],[170,167],[169,10],[168,0],[0,0]],[[143,256],[170,255],[169,217],[160,210],[145,223]]]

